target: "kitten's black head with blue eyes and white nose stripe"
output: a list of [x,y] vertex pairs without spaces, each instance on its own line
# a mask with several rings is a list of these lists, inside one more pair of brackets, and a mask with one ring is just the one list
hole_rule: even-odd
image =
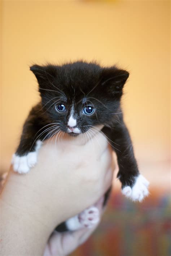
[[112,123],[129,76],[115,66],[103,68],[83,61],[33,65],[30,70],[39,83],[43,115],[72,136]]

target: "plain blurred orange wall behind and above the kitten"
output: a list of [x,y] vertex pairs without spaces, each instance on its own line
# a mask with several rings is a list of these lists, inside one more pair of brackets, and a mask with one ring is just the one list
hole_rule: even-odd
[[99,60],[131,75],[125,119],[139,159],[170,147],[170,1],[2,1],[1,169],[39,97],[32,63]]

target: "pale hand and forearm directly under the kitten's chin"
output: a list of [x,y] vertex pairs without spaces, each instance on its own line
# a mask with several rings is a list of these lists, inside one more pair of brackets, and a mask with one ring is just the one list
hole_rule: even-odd
[[1,193],[1,255],[43,255],[55,227],[95,204],[110,187],[106,139],[58,137],[44,144],[26,175],[10,169]]

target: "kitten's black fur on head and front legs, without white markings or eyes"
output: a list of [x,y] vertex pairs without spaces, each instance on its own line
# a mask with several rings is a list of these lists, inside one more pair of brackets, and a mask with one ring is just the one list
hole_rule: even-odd
[[[133,187],[139,170],[120,107],[123,86],[129,73],[116,66],[103,68],[84,61],[61,66],[33,65],[30,70],[38,80],[41,102],[32,108],[23,126],[16,155],[34,152],[37,140],[42,141],[54,134],[51,128],[54,123],[58,123],[60,130],[68,133],[67,122],[71,106],[74,106],[74,118],[82,133],[92,126],[104,125],[102,132],[117,154],[118,178],[122,188]],[[55,106],[61,103],[66,107],[65,112],[56,111]],[[83,108],[86,106],[95,108],[95,113],[85,115]],[[49,129],[44,132],[46,128]],[[76,136],[78,133],[72,132],[70,135]]]

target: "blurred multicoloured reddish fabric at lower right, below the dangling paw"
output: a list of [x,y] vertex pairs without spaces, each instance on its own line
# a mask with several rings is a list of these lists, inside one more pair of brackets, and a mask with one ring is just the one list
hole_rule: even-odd
[[169,193],[131,202],[113,191],[102,222],[72,256],[170,256],[171,204]]

